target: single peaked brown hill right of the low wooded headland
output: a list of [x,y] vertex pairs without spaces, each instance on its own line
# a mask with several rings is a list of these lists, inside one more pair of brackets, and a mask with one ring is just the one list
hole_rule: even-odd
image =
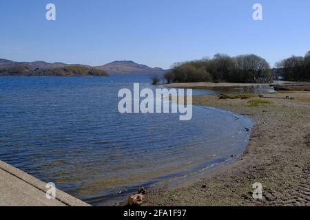
[[161,76],[166,72],[164,69],[147,67],[133,61],[114,61],[96,68],[110,73],[111,76]]

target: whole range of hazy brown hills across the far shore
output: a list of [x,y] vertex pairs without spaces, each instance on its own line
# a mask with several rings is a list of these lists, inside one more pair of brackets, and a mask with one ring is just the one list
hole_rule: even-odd
[[[12,72],[13,69],[19,69],[20,70],[19,74],[21,75],[23,72],[31,72],[34,69],[36,69],[37,73],[43,74],[44,69],[45,70],[56,69],[56,68],[63,68],[63,67],[69,67],[69,66],[99,69],[103,72],[107,72],[111,76],[154,76],[154,75],[161,76],[165,74],[166,72],[165,69],[161,69],[158,67],[151,68],[151,67],[147,67],[147,65],[141,65],[138,63],[134,63],[133,61],[114,61],[106,65],[101,65],[98,67],[90,67],[88,65],[79,65],[79,64],[47,63],[44,61],[15,62],[15,61],[9,61],[6,59],[0,59],[0,76],[3,76],[3,75],[8,76],[8,73]],[[25,71],[25,67],[28,68],[27,71]],[[23,69],[23,71],[21,71],[21,69]],[[6,74],[3,74],[3,72],[6,72]],[[50,72],[52,73],[52,71]],[[103,74],[103,72],[101,72],[101,74]]]

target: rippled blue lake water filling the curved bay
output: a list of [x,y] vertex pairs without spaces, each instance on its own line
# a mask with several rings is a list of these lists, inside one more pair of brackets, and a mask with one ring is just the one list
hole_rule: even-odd
[[227,111],[118,113],[118,90],[139,82],[154,89],[149,78],[0,78],[0,159],[97,204],[244,151],[253,122]]

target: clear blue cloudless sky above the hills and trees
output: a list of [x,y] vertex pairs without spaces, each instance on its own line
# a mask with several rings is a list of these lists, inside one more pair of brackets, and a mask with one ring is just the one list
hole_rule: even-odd
[[[56,5],[56,21],[45,5]],[[261,3],[263,21],[252,19]],[[273,65],[310,50],[309,0],[1,0],[0,57],[168,68],[220,52]]]

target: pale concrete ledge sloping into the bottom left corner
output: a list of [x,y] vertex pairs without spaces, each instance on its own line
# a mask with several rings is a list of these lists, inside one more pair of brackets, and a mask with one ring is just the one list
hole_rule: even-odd
[[46,183],[0,160],[0,206],[90,206],[56,189],[47,199]]

